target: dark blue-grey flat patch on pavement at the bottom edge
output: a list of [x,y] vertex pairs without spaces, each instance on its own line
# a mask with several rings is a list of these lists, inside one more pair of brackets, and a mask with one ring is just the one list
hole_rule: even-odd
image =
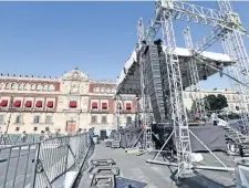
[[126,179],[122,177],[116,178],[116,188],[144,188],[147,184]]

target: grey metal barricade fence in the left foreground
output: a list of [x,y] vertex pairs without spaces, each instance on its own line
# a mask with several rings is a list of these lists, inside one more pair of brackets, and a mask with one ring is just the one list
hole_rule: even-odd
[[0,148],[0,188],[63,187],[79,173],[91,143],[87,133]]

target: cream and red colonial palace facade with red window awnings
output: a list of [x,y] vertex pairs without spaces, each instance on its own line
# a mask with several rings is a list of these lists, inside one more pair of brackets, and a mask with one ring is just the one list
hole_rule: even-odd
[[113,98],[115,82],[93,81],[77,69],[59,79],[1,75],[0,92],[0,130],[8,133],[110,130],[136,113],[134,96]]

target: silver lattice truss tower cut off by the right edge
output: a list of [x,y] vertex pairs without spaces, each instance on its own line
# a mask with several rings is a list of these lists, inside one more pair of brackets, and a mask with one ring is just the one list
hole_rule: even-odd
[[[232,25],[232,30],[227,32],[222,39],[222,46],[225,53],[227,53],[230,58],[232,58],[237,63],[229,67],[229,73],[235,76],[237,80],[243,82],[245,84],[249,83],[249,62],[248,54],[243,44],[242,35],[241,35],[241,22],[239,20],[239,15],[232,11],[232,7],[229,0],[218,0],[219,10],[222,12],[221,17],[231,20],[236,19],[236,25]],[[239,106],[242,115],[242,122],[246,125],[247,134],[249,126],[249,116],[246,108],[246,101],[248,88],[245,85],[237,84],[236,90],[239,96]]]

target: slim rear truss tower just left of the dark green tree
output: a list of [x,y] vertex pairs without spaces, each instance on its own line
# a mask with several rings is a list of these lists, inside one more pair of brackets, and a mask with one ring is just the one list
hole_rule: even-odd
[[[189,50],[189,53],[191,56],[194,55],[194,45],[193,45],[193,40],[191,40],[191,34],[190,34],[190,29],[186,28],[183,32],[184,34],[184,41],[186,49]],[[198,114],[203,117],[206,116],[206,109],[205,109],[205,103],[200,97],[200,87],[199,87],[199,74],[198,74],[198,69],[197,69],[197,62],[195,59],[190,58],[188,60],[188,70],[189,70],[189,75],[190,75],[190,83],[191,83],[191,98],[195,102],[195,111],[198,112]],[[193,92],[194,91],[194,92]]]

